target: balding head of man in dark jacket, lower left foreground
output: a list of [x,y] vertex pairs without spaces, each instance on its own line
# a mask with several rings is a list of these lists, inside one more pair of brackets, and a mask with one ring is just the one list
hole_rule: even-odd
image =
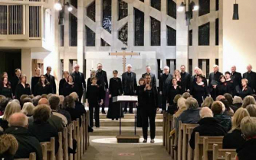
[[28,127],[28,117],[25,114],[19,112],[11,114],[11,117],[8,119],[9,126],[21,126]]

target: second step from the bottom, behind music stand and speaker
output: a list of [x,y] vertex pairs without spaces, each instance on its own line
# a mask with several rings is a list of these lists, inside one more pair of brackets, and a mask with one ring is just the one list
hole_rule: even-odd
[[[100,126],[119,126],[119,124],[119,120],[100,119]],[[122,126],[134,126],[134,119],[123,119]],[[162,126],[162,120],[157,119],[156,126]]]

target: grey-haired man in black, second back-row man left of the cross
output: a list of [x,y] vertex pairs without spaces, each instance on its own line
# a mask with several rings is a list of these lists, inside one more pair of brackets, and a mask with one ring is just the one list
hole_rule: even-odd
[[74,72],[71,74],[74,77],[74,83],[77,84],[77,88],[78,88],[78,97],[79,97],[79,101],[82,101],[82,97],[83,94],[85,92],[86,89],[86,84],[85,84],[85,80],[84,80],[84,73],[79,72],[79,65],[75,65],[74,66]]

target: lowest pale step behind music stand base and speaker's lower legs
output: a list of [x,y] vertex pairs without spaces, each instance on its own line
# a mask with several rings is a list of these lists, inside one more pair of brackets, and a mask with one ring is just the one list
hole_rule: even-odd
[[[149,130],[149,128],[148,128]],[[119,135],[119,126],[100,126],[100,128],[94,127],[94,132],[90,133],[90,136],[117,136]],[[133,126],[123,126],[122,127],[123,136],[134,135]],[[136,128],[136,135],[143,136],[143,130],[140,127]],[[150,130],[148,131],[150,135]],[[162,126],[156,126],[156,136],[162,136]]]

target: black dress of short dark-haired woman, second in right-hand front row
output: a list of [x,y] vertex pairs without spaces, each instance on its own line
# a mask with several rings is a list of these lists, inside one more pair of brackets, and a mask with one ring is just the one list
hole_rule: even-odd
[[198,101],[199,106],[201,106],[202,102],[208,95],[208,87],[205,84],[198,85],[197,83],[194,83],[191,88],[191,94],[193,98]]

